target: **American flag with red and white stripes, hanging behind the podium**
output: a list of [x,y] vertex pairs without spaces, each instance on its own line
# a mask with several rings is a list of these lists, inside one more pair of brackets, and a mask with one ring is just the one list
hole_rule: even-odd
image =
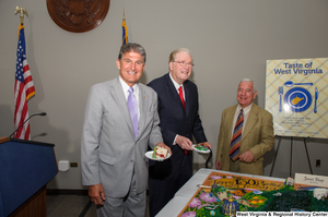
[[[35,95],[35,88],[25,55],[25,36],[23,24],[21,24],[19,28],[14,94],[14,125],[15,129],[17,129],[28,118],[27,101],[31,97]],[[30,122],[27,121],[21,129],[19,129],[17,132],[13,135],[13,137],[31,140]]]

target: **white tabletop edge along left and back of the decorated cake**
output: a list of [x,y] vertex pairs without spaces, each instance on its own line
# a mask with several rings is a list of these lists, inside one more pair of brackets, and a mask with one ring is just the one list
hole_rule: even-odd
[[281,178],[245,174],[245,173],[201,168],[189,179],[189,181],[181,189],[179,189],[178,192],[176,192],[174,197],[162,208],[162,210],[156,215],[156,217],[178,216],[179,213],[183,210],[183,208],[188,204],[190,198],[194,196],[194,194],[197,192],[198,190],[197,184],[202,184],[202,182],[208,178],[208,176],[212,171],[235,174],[235,176],[242,174],[243,177],[266,179],[266,180],[280,181],[280,182],[285,181],[284,179]]

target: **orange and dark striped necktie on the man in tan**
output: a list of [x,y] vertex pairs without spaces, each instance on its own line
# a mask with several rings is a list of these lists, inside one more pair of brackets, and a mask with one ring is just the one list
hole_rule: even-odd
[[231,138],[230,150],[229,150],[230,158],[233,161],[235,161],[236,159],[239,158],[239,147],[241,147],[243,123],[244,123],[244,114],[243,114],[243,109],[241,109],[241,113],[238,116],[238,119],[237,119],[237,122],[236,122],[236,125],[234,129],[234,134]]

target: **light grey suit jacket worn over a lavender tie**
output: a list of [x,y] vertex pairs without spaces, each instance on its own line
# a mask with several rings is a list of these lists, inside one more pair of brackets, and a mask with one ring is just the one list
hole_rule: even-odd
[[139,86],[139,136],[136,138],[119,77],[91,87],[81,144],[82,183],[102,183],[105,194],[122,197],[132,173],[137,193],[147,190],[148,166],[144,153],[163,142],[159,126],[157,95]]

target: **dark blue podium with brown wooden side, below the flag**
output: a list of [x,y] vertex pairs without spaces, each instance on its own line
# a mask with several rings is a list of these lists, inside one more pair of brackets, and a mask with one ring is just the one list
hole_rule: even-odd
[[58,173],[54,146],[0,137],[0,217],[46,216],[46,184]]

